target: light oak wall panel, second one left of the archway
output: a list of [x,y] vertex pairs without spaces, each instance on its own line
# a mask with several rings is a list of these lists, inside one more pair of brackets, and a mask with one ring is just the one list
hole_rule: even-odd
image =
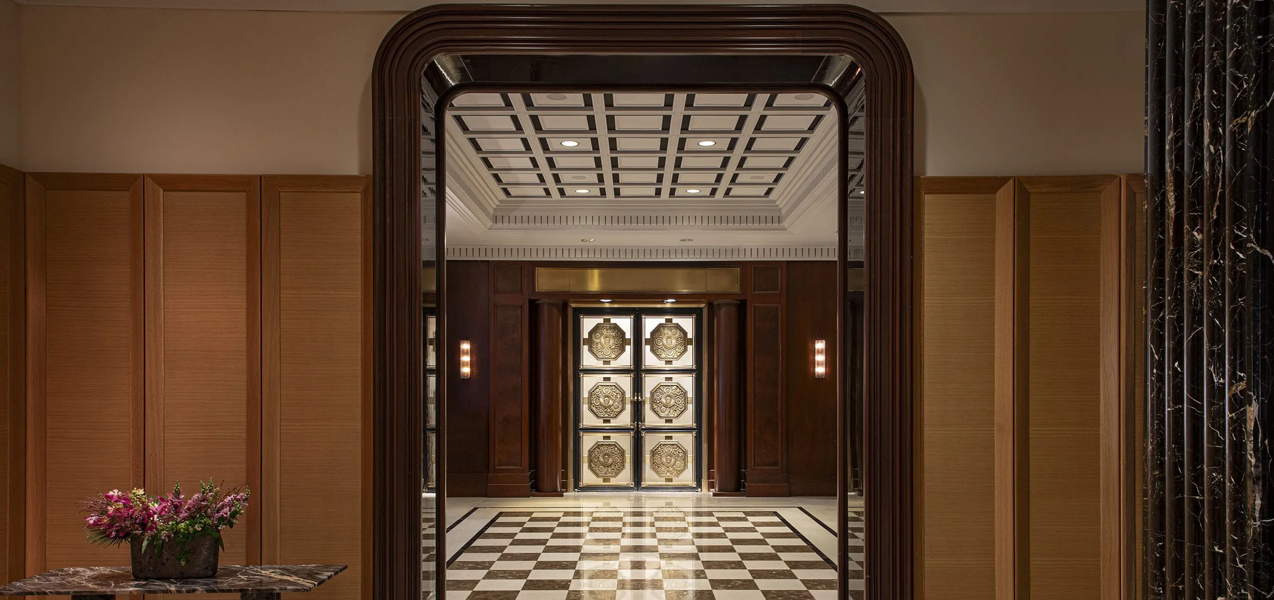
[[[260,494],[260,177],[148,176],[147,488]],[[256,499],[224,534],[260,561]]]

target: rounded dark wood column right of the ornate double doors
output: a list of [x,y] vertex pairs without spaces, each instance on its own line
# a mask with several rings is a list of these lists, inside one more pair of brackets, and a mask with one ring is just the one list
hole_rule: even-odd
[[716,445],[712,469],[716,471],[713,493],[740,493],[739,485],[739,301],[712,303],[712,359],[716,420]]

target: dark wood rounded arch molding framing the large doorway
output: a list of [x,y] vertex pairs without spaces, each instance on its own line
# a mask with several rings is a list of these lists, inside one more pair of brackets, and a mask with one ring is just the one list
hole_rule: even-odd
[[[420,597],[422,73],[431,61],[447,55],[521,54],[823,54],[852,56],[861,68],[866,93],[864,266],[869,307],[864,340],[864,396],[869,399],[864,423],[869,448],[864,462],[869,540],[865,576],[869,599],[912,597],[916,567],[911,59],[898,33],[880,17],[856,6],[831,4],[434,5],[406,15],[386,34],[372,75],[372,419],[368,432],[372,597]],[[841,166],[843,169],[845,163]],[[841,197],[843,222],[843,192]],[[445,227],[442,211],[440,206],[440,228]],[[440,259],[445,256],[436,254]],[[843,278],[847,254],[843,232],[838,254]],[[437,276],[445,282],[445,260],[438,260],[437,266]],[[441,292],[440,313],[446,311]],[[443,320],[440,320],[441,327],[445,327]],[[446,339],[445,330],[438,331],[438,339]],[[440,357],[440,364],[447,366],[447,358]],[[846,376],[842,373],[840,378],[842,399]],[[440,397],[445,397],[445,390],[440,391]],[[843,413],[845,403],[840,404]],[[445,425],[442,403],[438,410]],[[847,489],[846,428],[842,418],[838,452],[842,504]],[[440,439],[440,476],[445,473],[443,450]],[[445,482],[438,484],[441,489]],[[441,521],[442,516],[438,517]],[[838,529],[845,527],[842,511]],[[838,563],[845,564],[845,544],[840,548]],[[841,597],[846,597],[845,577],[841,568]]]

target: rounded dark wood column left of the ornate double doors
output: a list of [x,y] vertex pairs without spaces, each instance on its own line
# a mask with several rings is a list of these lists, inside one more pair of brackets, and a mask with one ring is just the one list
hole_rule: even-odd
[[562,490],[562,312],[561,301],[535,302],[535,492]]

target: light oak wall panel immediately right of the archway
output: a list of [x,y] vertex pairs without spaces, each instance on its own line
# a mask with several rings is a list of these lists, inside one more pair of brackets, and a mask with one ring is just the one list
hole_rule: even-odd
[[[996,206],[1012,180],[916,187],[922,597],[995,597]],[[870,450],[869,450],[870,451]]]

